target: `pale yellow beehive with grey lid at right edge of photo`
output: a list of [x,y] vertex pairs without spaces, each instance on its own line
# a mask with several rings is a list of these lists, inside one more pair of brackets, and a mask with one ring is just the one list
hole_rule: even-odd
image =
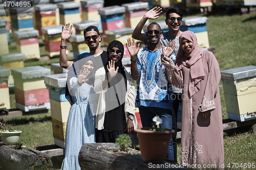
[[221,71],[228,118],[245,121],[256,118],[256,66]]

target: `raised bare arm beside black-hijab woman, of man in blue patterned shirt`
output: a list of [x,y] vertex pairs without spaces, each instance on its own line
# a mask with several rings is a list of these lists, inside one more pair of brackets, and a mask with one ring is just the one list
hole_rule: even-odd
[[128,52],[131,55],[131,74],[132,74],[132,78],[133,80],[138,80],[140,77],[140,73],[137,67],[137,62],[136,62],[136,58],[137,58],[137,54],[139,52],[139,47],[140,44],[137,45],[137,47],[135,46],[135,42],[133,39],[133,42],[131,40],[131,38],[127,39],[127,43],[126,43],[126,47]]

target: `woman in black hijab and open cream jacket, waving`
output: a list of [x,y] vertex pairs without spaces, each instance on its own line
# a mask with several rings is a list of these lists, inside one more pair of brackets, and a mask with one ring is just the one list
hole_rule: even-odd
[[[96,142],[115,142],[115,138],[124,133],[136,138],[134,80],[131,71],[122,65],[123,52],[123,44],[112,41],[107,51],[109,64],[95,73],[94,91],[100,95],[95,123]],[[133,145],[137,144],[133,140]]]

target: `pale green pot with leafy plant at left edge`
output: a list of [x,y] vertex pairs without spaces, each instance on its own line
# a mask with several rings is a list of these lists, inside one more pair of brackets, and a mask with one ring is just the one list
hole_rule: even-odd
[[13,130],[11,126],[0,123],[0,135],[4,144],[15,144],[19,140],[20,133],[22,133],[22,131]]

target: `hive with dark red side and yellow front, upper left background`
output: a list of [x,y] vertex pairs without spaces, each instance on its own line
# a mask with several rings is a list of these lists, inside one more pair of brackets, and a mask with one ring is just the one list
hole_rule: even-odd
[[42,37],[42,27],[56,26],[56,4],[39,4],[35,6],[36,30]]

